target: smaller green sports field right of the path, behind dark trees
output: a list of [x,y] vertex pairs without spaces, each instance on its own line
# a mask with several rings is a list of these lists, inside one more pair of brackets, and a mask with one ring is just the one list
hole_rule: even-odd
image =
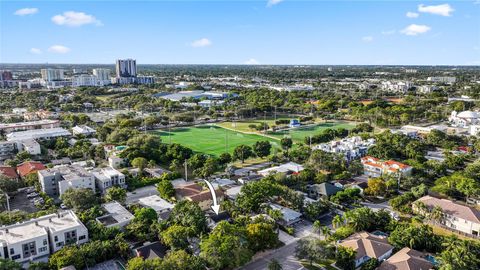
[[308,127],[300,127],[295,129],[290,129],[286,131],[278,131],[278,132],[269,132],[269,136],[277,137],[279,139],[283,137],[290,137],[296,143],[304,142],[305,137],[313,136],[322,132],[327,128],[337,129],[337,128],[345,128],[345,129],[352,129],[355,127],[355,124],[349,122],[326,122],[321,123],[315,126],[308,126]]

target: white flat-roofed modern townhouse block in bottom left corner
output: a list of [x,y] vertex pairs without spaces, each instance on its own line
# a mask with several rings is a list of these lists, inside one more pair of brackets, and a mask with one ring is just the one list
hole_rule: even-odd
[[63,246],[88,241],[88,230],[73,211],[0,227],[0,257],[23,263],[46,261]]

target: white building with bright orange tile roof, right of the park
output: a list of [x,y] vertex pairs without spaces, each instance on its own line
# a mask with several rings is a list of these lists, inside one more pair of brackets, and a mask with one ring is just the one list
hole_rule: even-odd
[[395,160],[382,161],[372,156],[361,159],[364,174],[369,177],[380,177],[383,174],[408,176],[412,174],[412,167]]

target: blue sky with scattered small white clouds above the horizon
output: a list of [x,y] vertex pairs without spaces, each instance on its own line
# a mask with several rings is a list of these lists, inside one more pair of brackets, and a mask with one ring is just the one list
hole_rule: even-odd
[[480,1],[0,0],[0,34],[2,63],[480,65]]

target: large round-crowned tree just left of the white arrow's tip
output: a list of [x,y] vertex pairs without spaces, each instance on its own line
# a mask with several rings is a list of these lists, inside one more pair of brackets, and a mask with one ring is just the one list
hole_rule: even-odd
[[198,204],[187,200],[175,204],[168,222],[171,225],[177,224],[192,228],[193,235],[200,235],[207,230],[207,220],[202,209]]

